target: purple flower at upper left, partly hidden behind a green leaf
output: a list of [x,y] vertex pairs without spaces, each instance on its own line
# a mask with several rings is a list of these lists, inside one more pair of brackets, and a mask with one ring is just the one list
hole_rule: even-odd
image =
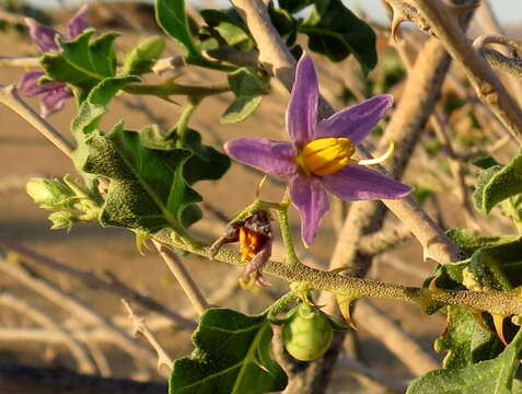
[[[86,4],[71,18],[67,24],[68,33],[61,35],[54,28],[44,26],[32,18],[25,19],[25,24],[30,30],[30,36],[33,43],[39,48],[42,53],[57,53],[60,47],[56,43],[56,38],[60,37],[63,40],[74,38],[88,27],[85,21]],[[66,105],[67,100],[73,96],[72,92],[62,82],[46,82],[38,84],[38,80],[44,76],[44,71],[31,71],[25,73],[20,80],[18,88],[20,94],[26,97],[34,97],[43,94],[40,100],[40,114],[47,117],[50,114],[60,111]]]

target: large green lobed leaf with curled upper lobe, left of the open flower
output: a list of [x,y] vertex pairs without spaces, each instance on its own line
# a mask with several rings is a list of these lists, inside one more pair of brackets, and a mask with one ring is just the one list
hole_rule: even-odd
[[91,91],[72,125],[79,146],[74,163],[83,173],[109,179],[100,217],[102,224],[150,232],[165,227],[179,230],[200,218],[199,209],[192,204],[201,197],[183,176],[192,152],[147,148],[140,135],[125,130],[121,123],[108,135],[97,128],[111,100],[136,80],[111,78]]

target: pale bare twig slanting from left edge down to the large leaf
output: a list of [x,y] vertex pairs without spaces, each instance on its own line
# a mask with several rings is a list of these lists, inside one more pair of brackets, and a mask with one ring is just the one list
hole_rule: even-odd
[[0,85],[0,103],[14,111],[22,118],[33,126],[38,132],[47,138],[56,148],[58,148],[68,158],[72,157],[73,146],[69,140],[61,136],[53,126],[45,121],[33,108],[31,108],[16,94],[14,85]]

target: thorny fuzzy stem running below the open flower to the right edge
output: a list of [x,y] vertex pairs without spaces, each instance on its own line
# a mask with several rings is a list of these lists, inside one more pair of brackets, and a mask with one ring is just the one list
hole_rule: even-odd
[[[155,239],[187,252],[208,257],[208,246],[175,243],[175,240],[171,239],[170,233],[166,231],[158,233]],[[230,247],[222,247],[213,259],[233,265],[244,265],[240,254]],[[279,262],[268,262],[264,267],[264,271],[288,282],[308,282],[311,289],[329,291],[336,294],[352,296],[357,293],[359,297],[408,301],[420,304],[425,309],[427,306],[455,305],[506,316],[522,315],[522,297],[515,290],[469,291],[405,287],[321,271],[304,264],[290,265]]]

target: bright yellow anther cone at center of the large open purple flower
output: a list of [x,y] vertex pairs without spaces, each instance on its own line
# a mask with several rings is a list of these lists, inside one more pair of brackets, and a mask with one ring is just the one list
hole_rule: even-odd
[[349,138],[318,138],[304,146],[295,162],[306,174],[330,175],[357,163],[351,159],[355,152],[356,147]]

